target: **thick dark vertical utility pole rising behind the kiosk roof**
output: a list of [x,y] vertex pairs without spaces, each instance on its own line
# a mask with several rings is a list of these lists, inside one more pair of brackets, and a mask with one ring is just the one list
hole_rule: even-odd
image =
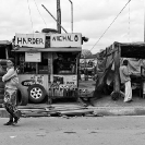
[[58,33],[61,34],[61,9],[60,9],[60,0],[57,0],[57,28],[58,28]]

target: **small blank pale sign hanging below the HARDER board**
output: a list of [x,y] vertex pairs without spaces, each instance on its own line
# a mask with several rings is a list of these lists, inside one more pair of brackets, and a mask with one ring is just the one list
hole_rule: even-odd
[[25,62],[40,62],[40,52],[25,52]]

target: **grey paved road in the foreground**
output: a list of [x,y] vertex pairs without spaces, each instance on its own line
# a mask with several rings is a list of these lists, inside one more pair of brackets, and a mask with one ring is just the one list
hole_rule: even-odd
[[145,117],[0,119],[0,145],[145,145]]

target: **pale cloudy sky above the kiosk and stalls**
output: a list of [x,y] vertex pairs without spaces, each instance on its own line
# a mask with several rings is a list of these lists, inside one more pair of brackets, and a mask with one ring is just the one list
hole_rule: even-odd
[[[72,33],[73,13],[73,33],[88,37],[82,48],[92,50],[93,53],[106,49],[114,41],[144,41],[145,2],[131,0],[124,8],[128,1],[72,0],[72,12],[71,2],[60,0],[61,25],[68,33]],[[57,0],[0,0],[0,40],[12,40],[15,33],[32,34],[41,32],[43,28],[57,29],[56,21],[41,7],[44,4],[57,19]],[[61,32],[64,33],[63,29]]]

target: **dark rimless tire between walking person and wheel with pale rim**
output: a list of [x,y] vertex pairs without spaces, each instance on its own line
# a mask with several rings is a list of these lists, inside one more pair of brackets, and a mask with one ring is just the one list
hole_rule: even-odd
[[26,106],[28,104],[28,95],[22,95],[21,90],[17,89],[16,95],[16,105],[17,106]]

